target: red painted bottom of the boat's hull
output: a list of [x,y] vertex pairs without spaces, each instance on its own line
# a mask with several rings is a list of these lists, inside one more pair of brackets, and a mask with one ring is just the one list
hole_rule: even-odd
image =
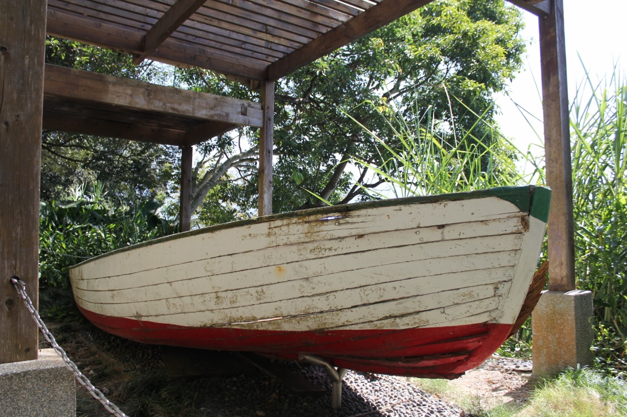
[[[80,308],[80,307],[79,307]],[[81,309],[105,332],[136,342],[221,351],[252,351],[282,359],[317,354],[334,366],[379,374],[457,378],[489,358],[511,324],[478,323],[420,329],[264,331],[184,327],[102,316]]]

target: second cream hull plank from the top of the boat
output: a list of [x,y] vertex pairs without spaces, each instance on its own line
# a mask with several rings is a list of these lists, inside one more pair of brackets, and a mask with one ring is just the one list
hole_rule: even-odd
[[[213,257],[210,259],[201,259],[193,262],[186,262],[184,264],[169,265],[167,267],[144,270],[134,274],[119,275],[112,277],[100,277],[92,279],[83,279],[76,283],[76,289],[85,289],[90,291],[117,291],[122,289],[130,289],[135,291],[140,287],[155,287],[154,275],[161,274],[168,277],[167,282],[162,285],[169,286],[177,281],[186,281],[186,285],[194,283],[194,279],[203,280],[204,277],[211,276],[212,286],[216,288],[216,291],[226,291],[229,289],[236,289],[238,286],[233,285],[233,277],[224,277],[223,281],[218,281],[220,275],[228,274],[229,272],[237,272],[241,275],[240,280],[250,283],[250,286],[254,286],[255,282],[250,281],[254,279],[255,273],[249,275],[247,271],[255,269],[260,266],[277,267],[285,264],[302,263],[307,260],[313,260],[320,264],[324,260],[324,264],[333,264],[334,262],[327,262],[330,257],[350,254],[352,252],[370,252],[379,249],[390,249],[396,247],[403,247],[409,245],[419,245],[421,252],[431,250],[438,254],[445,254],[445,249],[437,245],[431,245],[437,242],[453,242],[453,240],[460,240],[460,244],[464,244],[465,239],[472,239],[477,237],[487,237],[487,244],[489,244],[490,237],[505,237],[508,234],[521,234],[523,232],[522,222],[520,217],[498,219],[493,222],[472,222],[471,224],[455,224],[446,225],[446,227],[430,227],[430,228],[414,228],[410,230],[396,230],[394,232],[382,232],[380,234],[368,235],[358,234],[352,240],[345,241],[343,239],[335,239],[330,242],[309,242],[307,244],[297,244],[293,247],[270,247],[255,252],[245,252],[240,254],[232,254],[228,257],[228,260],[223,261],[223,257]],[[350,238],[349,238],[350,239]],[[473,240],[473,242],[480,242]],[[467,244],[466,244],[467,245]],[[433,249],[431,249],[433,247]],[[399,252],[396,249],[390,249],[388,252]],[[386,257],[386,253],[382,253],[381,257]],[[393,254],[394,255],[394,254]],[[400,252],[399,256],[404,255]],[[418,259],[412,252],[414,259]],[[423,255],[424,256],[424,255]],[[364,257],[371,257],[369,254],[364,254]],[[382,262],[385,260],[383,259]],[[340,261],[341,262],[341,261]],[[337,262],[335,262],[337,263]],[[107,265],[103,265],[107,267]],[[283,270],[275,270],[278,273],[276,277],[279,282],[283,282],[286,278],[283,274]],[[325,271],[330,273],[331,271]],[[252,275],[252,276],[251,276]],[[201,287],[206,288],[204,281],[201,281]],[[263,284],[266,284],[266,282]],[[157,284],[159,285],[159,284]],[[149,290],[150,291],[150,290]],[[198,294],[199,292],[195,292]],[[189,295],[189,294],[181,294]]]

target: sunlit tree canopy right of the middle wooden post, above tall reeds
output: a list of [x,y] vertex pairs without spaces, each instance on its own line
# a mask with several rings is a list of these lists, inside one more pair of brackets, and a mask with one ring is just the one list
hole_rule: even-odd
[[[344,155],[379,161],[381,143],[352,118],[387,141],[393,132],[377,109],[392,101],[410,123],[430,112],[487,138],[491,128],[477,124],[478,115],[492,122],[493,93],[520,68],[521,26],[520,12],[503,1],[435,1],[287,76],[276,93],[273,211],[317,205],[307,191],[323,195],[338,170],[336,187],[323,197],[339,202],[351,183],[339,165]],[[460,101],[450,103],[443,85]]]

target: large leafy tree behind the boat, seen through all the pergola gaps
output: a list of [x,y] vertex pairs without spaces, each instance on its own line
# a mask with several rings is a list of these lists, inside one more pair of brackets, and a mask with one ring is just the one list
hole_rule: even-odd
[[[361,188],[352,187],[354,180],[365,187],[380,180],[369,182],[366,168],[350,168],[343,161],[354,155],[376,162],[378,154],[352,118],[380,137],[392,138],[376,111],[391,101],[401,111],[409,103],[419,109],[416,114],[430,109],[443,125],[475,125],[475,113],[460,103],[492,121],[493,94],[520,68],[521,28],[520,12],[503,0],[435,1],[280,80],[275,93],[273,211],[318,205],[307,190],[335,203],[365,198]],[[176,68],[163,76],[150,64],[130,68],[128,56],[115,54],[90,52],[89,59],[109,63],[90,62],[89,69],[258,101],[258,90],[211,71]],[[366,101],[376,107],[363,105]],[[409,112],[405,116],[411,118]],[[485,135],[475,131],[475,136],[482,140]],[[258,130],[241,128],[196,147],[192,198],[194,205],[203,202],[203,219],[233,219],[234,213],[255,211],[257,143]]]

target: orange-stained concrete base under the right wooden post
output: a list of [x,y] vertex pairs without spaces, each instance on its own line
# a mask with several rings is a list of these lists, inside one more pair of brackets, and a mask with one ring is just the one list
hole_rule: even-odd
[[543,291],[532,315],[534,376],[551,378],[577,364],[591,365],[594,338],[590,291]]

